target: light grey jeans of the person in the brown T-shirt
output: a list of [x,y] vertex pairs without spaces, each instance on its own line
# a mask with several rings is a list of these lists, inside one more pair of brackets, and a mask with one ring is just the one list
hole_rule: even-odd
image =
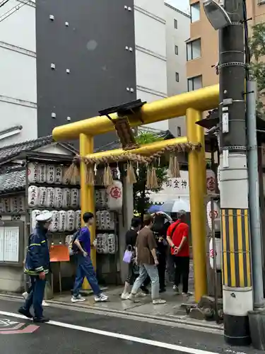
[[159,277],[158,277],[158,268],[156,265],[152,264],[141,264],[140,265],[140,274],[139,277],[135,280],[134,286],[131,289],[131,294],[136,294],[139,288],[146,280],[147,276],[151,278],[151,296],[152,299],[159,298]]

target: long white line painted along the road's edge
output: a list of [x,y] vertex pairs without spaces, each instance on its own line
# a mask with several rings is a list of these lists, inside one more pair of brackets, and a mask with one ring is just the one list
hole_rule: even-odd
[[[25,319],[24,316],[22,316],[20,314],[13,314],[13,312],[0,311],[0,314],[3,315],[3,316],[16,317],[17,319]],[[209,352],[207,350],[200,350],[200,349],[195,349],[195,348],[182,347],[182,346],[177,346],[175,344],[163,343],[163,342],[159,342],[159,341],[151,341],[150,339],[139,338],[139,337],[134,337],[134,336],[127,336],[126,334],[122,334],[122,333],[113,333],[113,332],[108,332],[108,331],[101,331],[100,329],[90,329],[88,327],[76,326],[74,324],[64,324],[62,322],[57,322],[57,321],[49,321],[49,322],[47,322],[47,324],[51,324],[52,326],[63,327],[63,328],[66,328],[66,329],[74,329],[76,331],[83,331],[83,332],[88,332],[88,333],[99,334],[100,336],[119,338],[119,339],[123,339],[124,341],[131,341],[131,342],[135,342],[135,343],[146,344],[147,346],[154,346],[154,347],[158,347],[158,348],[165,348],[165,349],[175,350],[175,351],[179,351],[179,352],[182,352],[182,353],[189,353],[189,354],[217,354],[217,353],[214,353],[214,352]]]

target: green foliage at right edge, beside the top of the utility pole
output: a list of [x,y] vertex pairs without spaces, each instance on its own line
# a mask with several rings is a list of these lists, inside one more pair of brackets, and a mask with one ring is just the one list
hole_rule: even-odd
[[265,118],[265,23],[259,23],[252,27],[252,37],[249,38],[249,50],[252,58],[250,62],[250,74],[252,79],[257,81],[257,111],[262,118]]

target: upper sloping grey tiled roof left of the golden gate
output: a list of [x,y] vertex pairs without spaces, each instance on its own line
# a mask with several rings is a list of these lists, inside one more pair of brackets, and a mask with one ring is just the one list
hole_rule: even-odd
[[43,147],[52,143],[52,135],[48,137],[40,137],[34,140],[27,140],[20,144],[8,145],[0,148],[0,164],[4,164],[7,160],[10,160],[23,152],[30,152],[38,147]]

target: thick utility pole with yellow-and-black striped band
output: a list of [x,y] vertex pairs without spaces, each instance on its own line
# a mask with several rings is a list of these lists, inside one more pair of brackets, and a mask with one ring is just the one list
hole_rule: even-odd
[[243,0],[225,0],[231,25],[219,31],[220,207],[225,342],[250,343],[253,309],[245,114]]

